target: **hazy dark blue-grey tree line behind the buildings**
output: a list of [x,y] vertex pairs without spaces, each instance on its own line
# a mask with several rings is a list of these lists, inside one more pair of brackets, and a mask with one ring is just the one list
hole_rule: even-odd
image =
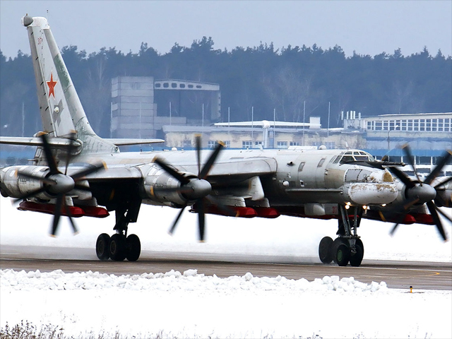
[[[362,116],[396,113],[452,112],[452,57],[427,47],[404,56],[382,52],[345,57],[339,46],[322,49],[273,44],[215,49],[210,37],[190,47],[174,44],[160,54],[147,43],[137,53],[114,47],[87,54],[65,46],[61,55],[83,107],[100,136],[109,135],[111,79],[116,76],[153,76],[219,83],[221,120],[254,119],[309,121],[321,117],[326,126],[342,126],[340,112]],[[275,109],[275,111],[274,111]],[[25,119],[22,119],[25,117]],[[36,85],[29,54],[18,51],[6,58],[0,51],[0,134],[30,136],[41,129]]]

